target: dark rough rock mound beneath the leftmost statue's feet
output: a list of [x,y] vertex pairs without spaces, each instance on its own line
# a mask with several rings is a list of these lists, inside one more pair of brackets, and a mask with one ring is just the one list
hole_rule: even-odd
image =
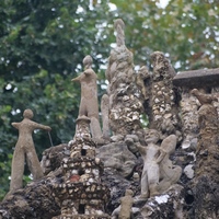
[[[56,175],[59,178],[58,174]],[[60,214],[60,203],[54,196],[55,177],[46,176],[9,195],[0,205],[1,219],[50,219]]]

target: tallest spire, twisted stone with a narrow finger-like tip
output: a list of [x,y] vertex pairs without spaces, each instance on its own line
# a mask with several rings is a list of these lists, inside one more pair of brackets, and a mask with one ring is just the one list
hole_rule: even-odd
[[142,104],[136,96],[132,53],[125,46],[123,20],[116,20],[114,27],[117,45],[111,50],[106,69],[110,127],[114,136],[124,136],[140,128]]

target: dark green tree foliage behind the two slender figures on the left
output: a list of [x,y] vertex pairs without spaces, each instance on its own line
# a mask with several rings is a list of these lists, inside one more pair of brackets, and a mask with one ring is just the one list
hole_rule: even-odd
[[[104,11],[106,3],[91,8],[83,0],[0,2],[0,171],[5,173],[1,191],[9,186],[10,168],[4,165],[18,139],[11,123],[22,120],[25,108],[33,110],[34,120],[51,127],[54,145],[72,139],[80,89],[71,79],[82,71],[85,55],[94,57],[95,69],[102,64],[95,56],[108,56],[96,28],[107,16]],[[48,135],[39,130],[33,137],[41,157],[50,147]]]

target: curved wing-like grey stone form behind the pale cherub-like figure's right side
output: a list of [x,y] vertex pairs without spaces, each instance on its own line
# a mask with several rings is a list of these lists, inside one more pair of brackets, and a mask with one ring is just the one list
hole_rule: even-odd
[[158,163],[160,163],[160,182],[157,191],[159,194],[162,194],[171,185],[175,184],[182,175],[182,168],[180,165],[173,165],[172,161],[169,159],[170,154],[175,151],[176,142],[177,137],[175,135],[170,135],[160,146],[162,155],[160,155],[158,160]]

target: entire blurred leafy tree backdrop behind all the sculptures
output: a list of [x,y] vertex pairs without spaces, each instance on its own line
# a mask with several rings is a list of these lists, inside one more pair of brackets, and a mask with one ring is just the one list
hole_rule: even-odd
[[[115,19],[126,24],[136,68],[150,68],[150,54],[161,50],[181,71],[219,66],[218,14],[214,0],[0,1],[0,197],[18,139],[11,123],[32,108],[37,123],[53,128],[54,145],[72,139],[80,88],[70,80],[83,70],[85,55],[94,59],[99,95],[105,92]],[[41,159],[48,135],[36,131],[34,141]]]

